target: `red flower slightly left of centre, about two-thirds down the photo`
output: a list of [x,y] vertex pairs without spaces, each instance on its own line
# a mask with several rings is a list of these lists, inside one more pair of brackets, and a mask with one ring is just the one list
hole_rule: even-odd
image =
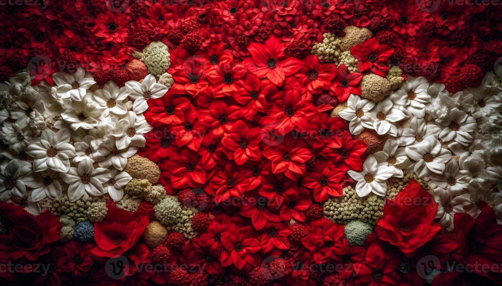
[[214,173],[206,192],[215,195],[216,203],[230,197],[241,198],[249,187],[249,179],[245,177],[244,172],[239,172],[234,165],[227,163],[224,170]]

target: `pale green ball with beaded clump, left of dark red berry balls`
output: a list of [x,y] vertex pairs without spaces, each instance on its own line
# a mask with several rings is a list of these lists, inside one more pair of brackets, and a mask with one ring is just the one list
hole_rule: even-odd
[[186,238],[193,238],[197,232],[192,228],[192,217],[197,212],[194,208],[182,206],[177,196],[167,195],[154,206],[155,217],[167,230],[177,231]]

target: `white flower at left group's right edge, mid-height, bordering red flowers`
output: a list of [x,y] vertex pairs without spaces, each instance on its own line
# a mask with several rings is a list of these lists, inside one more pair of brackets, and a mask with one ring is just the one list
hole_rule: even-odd
[[119,136],[116,136],[116,146],[118,150],[126,149],[129,146],[145,147],[145,133],[152,130],[143,115],[136,115],[129,111],[124,118],[117,122],[117,129],[122,130]]

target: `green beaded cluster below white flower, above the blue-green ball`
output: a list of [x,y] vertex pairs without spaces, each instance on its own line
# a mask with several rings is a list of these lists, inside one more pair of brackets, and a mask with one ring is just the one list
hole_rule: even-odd
[[376,195],[360,198],[352,187],[343,189],[341,197],[329,198],[323,205],[324,216],[337,223],[359,219],[372,225],[383,215],[385,201]]

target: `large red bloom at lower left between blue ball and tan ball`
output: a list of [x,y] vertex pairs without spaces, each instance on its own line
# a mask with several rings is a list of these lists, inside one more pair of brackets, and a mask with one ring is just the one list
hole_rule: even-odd
[[148,225],[148,214],[132,213],[108,203],[105,220],[94,224],[96,246],[92,254],[100,257],[117,257],[136,245]]

